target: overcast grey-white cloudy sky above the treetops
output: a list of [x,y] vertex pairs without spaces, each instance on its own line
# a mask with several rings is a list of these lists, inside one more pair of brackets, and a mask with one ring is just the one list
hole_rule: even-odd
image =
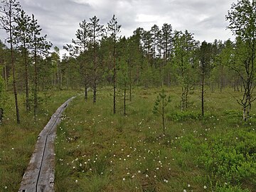
[[[196,40],[233,38],[226,29],[225,15],[237,0],[20,0],[27,14],[34,14],[53,46],[63,45],[75,38],[78,24],[92,16],[107,25],[113,14],[122,25],[122,36],[142,27],[149,30],[157,24],[169,23],[174,30],[187,29]],[[3,32],[0,33],[1,36]],[[3,39],[3,38],[1,38]]]

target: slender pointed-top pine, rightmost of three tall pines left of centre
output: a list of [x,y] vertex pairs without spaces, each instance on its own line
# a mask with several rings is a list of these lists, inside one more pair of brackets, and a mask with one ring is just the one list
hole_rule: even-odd
[[116,113],[116,88],[117,88],[117,35],[120,32],[121,25],[117,23],[117,18],[113,15],[107,23],[107,31],[112,38],[112,55],[113,55],[113,112]]

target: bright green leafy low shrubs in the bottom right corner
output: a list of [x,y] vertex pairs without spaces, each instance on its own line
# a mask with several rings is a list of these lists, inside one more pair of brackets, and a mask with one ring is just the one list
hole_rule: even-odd
[[[201,145],[199,165],[211,173],[212,181],[219,183],[255,183],[256,178],[256,135],[245,130],[230,130],[217,135],[211,142]],[[255,183],[256,184],[256,183]]]

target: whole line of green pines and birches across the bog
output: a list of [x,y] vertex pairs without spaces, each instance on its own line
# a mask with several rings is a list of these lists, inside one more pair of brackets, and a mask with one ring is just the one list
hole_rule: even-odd
[[235,41],[211,43],[197,41],[193,33],[176,31],[169,23],[154,25],[149,31],[137,28],[132,36],[120,36],[122,26],[116,16],[107,26],[93,16],[79,23],[75,38],[63,46],[68,54],[61,58],[60,48],[50,51],[52,44],[41,35],[35,16],[28,16],[16,0],[2,1],[0,24],[8,38],[0,40],[1,95],[14,91],[19,122],[18,92],[26,92],[26,109],[33,110],[36,121],[38,91],[42,90],[83,87],[87,100],[91,87],[92,101],[97,102],[99,87],[111,85],[115,113],[117,90],[122,92],[125,105],[126,100],[132,100],[135,86],[181,87],[180,107],[186,110],[189,94],[200,87],[203,116],[206,87],[220,92],[232,87],[242,92],[236,100],[247,120],[255,100],[255,8],[255,1],[233,4],[226,19]]

